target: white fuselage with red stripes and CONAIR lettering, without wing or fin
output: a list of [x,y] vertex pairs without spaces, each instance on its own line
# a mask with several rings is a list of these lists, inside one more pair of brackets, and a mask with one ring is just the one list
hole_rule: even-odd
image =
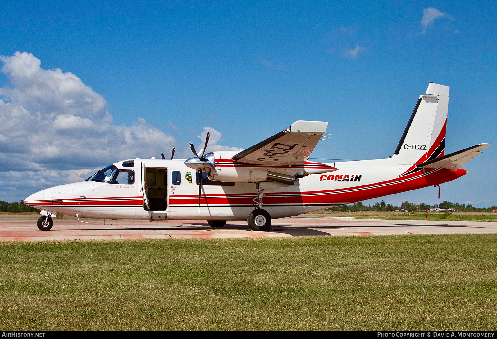
[[[26,198],[25,203],[59,214],[78,214],[80,218],[246,220],[254,209],[252,201],[257,197],[258,185],[264,193],[263,208],[272,218],[282,218],[438,185],[467,173],[463,169],[439,169],[401,177],[405,170],[389,166],[393,161],[395,159],[389,158],[339,162],[335,165],[336,171],[297,179],[293,186],[278,182],[235,183],[234,186],[204,184],[199,208],[196,171],[185,166],[184,160],[134,159],[134,167],[123,167],[122,161],[112,165],[119,170],[131,170],[135,179],[140,179],[143,176],[141,164],[145,164],[147,171],[156,177],[155,184],[147,186],[148,198],[151,203],[154,199],[164,200],[164,210],[144,208],[141,180],[133,184],[91,180],[66,184],[37,192]],[[172,182],[173,171],[180,173],[179,183]],[[149,184],[153,184],[150,179]],[[160,195],[161,191],[166,192]]]

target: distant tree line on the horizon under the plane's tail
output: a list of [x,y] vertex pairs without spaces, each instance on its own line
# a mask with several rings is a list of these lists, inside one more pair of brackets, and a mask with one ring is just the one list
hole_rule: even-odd
[[428,208],[455,208],[457,210],[474,210],[474,211],[491,211],[493,209],[497,209],[497,206],[492,206],[488,208],[479,208],[479,207],[474,207],[471,204],[460,204],[460,203],[451,203],[449,201],[443,201],[439,204],[433,204],[433,205],[428,205],[426,203],[419,203],[419,204],[414,204],[410,203],[408,201],[402,202],[400,206],[393,206],[390,203],[385,203],[384,200],[380,202],[374,203],[374,205],[364,205],[362,202],[358,203],[353,203],[350,205],[343,205],[343,206],[338,206],[331,208],[330,210],[333,211],[341,211],[341,212],[346,212],[346,211],[395,211],[395,210],[408,210],[408,211],[424,211]]

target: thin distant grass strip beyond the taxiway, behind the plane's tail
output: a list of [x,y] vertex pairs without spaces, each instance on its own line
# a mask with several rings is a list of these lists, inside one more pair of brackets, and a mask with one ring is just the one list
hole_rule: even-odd
[[[389,219],[389,220],[426,220],[426,212],[402,212],[402,213],[381,213],[381,214],[346,214],[337,217],[353,217],[354,219]],[[450,221],[497,221],[497,213],[451,213],[451,212],[431,212],[428,213],[428,220],[450,220]]]

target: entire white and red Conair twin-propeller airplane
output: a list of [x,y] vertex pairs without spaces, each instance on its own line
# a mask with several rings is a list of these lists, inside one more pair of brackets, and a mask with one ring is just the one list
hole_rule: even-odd
[[24,203],[41,209],[41,230],[52,227],[52,216],[66,214],[201,219],[216,227],[226,220],[247,220],[254,230],[267,230],[273,218],[436,186],[467,174],[461,167],[489,144],[444,155],[448,98],[449,87],[430,83],[387,159],[308,161],[320,138],[326,137],[328,123],[297,121],[241,152],[198,156],[192,147],[197,156],[190,159],[118,161],[84,182],[42,190]]

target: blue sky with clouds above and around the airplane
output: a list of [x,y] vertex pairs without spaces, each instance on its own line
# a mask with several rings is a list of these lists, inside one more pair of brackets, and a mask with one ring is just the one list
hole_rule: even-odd
[[[496,7],[10,1],[0,13],[8,103],[0,200],[82,180],[122,158],[158,157],[173,144],[189,157],[188,142],[200,145],[205,128],[211,149],[247,148],[296,120],[328,121],[331,140],[313,157],[385,158],[429,81],[451,87],[446,153],[494,143]],[[29,120],[22,110],[41,115]],[[495,204],[494,148],[442,185],[441,200]],[[385,201],[438,203],[436,195],[425,188]]]

